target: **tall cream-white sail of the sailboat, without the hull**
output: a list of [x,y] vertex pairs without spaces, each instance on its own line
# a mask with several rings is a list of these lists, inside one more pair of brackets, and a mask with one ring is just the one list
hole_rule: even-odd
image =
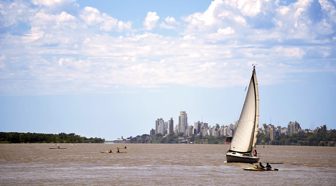
[[259,123],[259,93],[258,82],[253,68],[253,74],[247,90],[244,106],[235,134],[228,151],[239,153],[252,152],[252,146],[257,143]]

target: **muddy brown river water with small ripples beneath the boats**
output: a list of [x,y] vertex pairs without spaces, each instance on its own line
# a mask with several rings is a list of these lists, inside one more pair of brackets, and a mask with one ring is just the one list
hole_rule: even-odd
[[336,185],[336,147],[257,146],[263,165],[226,163],[228,145],[0,144],[0,185]]

